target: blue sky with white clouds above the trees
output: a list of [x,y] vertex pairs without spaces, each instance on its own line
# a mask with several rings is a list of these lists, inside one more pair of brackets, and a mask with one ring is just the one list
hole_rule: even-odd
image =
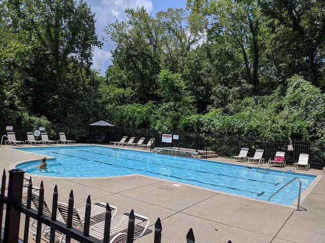
[[[95,13],[95,27],[99,38],[103,36],[103,28],[108,22],[114,22],[115,17],[122,20],[125,8],[136,9],[144,6],[149,15],[155,16],[159,11],[167,11],[168,8],[185,8],[186,0],[84,0],[92,13]],[[103,42],[102,49],[96,48],[93,53],[92,68],[105,74],[107,67],[111,64],[110,44]]]

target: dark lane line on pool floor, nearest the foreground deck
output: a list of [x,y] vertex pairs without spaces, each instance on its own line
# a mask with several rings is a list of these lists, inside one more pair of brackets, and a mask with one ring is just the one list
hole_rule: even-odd
[[[61,154],[61,153],[58,153],[58,152],[55,152],[55,153]],[[70,157],[75,157],[75,158],[80,158],[80,157],[74,156],[74,155],[68,155],[68,154],[63,154],[63,155],[70,156]],[[171,178],[177,178],[177,179],[185,180],[185,181],[193,181],[193,182],[197,182],[197,183],[204,184],[204,185],[211,185],[211,186],[216,186],[216,187],[222,187],[222,188],[232,189],[232,190],[236,190],[236,191],[245,191],[245,192],[249,192],[249,193],[252,193],[252,194],[256,194],[257,196],[261,196],[261,195],[263,195],[265,193],[264,191],[262,191],[262,192],[254,192],[254,191],[237,189],[236,187],[220,186],[220,185],[216,185],[216,184],[212,184],[212,183],[206,183],[206,182],[201,182],[201,181],[197,181],[197,180],[192,180],[192,179],[186,179],[186,178],[182,178],[182,177],[177,177],[177,176],[174,176],[174,175],[166,176],[166,175],[159,174],[159,173],[155,173],[155,172],[149,172],[149,171],[140,170],[140,169],[134,169],[134,168],[129,168],[129,167],[125,167],[125,166],[118,166],[118,165],[114,165],[114,164],[111,164],[111,163],[102,162],[102,161],[98,161],[98,160],[91,160],[91,159],[85,159],[85,158],[81,158],[81,159],[88,160],[88,161],[94,161],[96,163],[101,163],[101,164],[104,164],[104,165],[110,165],[110,166],[114,166],[114,167],[124,168],[124,169],[128,169],[128,170],[141,171],[141,172],[146,172],[148,174],[164,176],[165,178],[166,177],[171,177]]]

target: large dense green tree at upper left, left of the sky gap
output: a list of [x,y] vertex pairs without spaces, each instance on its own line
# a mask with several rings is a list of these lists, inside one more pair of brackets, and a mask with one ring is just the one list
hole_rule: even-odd
[[18,100],[36,115],[77,120],[68,117],[71,98],[87,96],[93,47],[101,46],[94,14],[72,0],[4,0],[2,7],[3,26],[15,36],[3,60],[20,75],[5,86],[13,85]]

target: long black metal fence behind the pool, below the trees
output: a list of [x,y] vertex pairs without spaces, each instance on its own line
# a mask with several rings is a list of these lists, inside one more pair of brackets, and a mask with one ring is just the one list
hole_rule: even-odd
[[[17,140],[25,140],[26,133],[32,132],[30,126],[22,126],[21,123],[8,123],[7,121],[0,121],[0,131],[6,134],[6,126],[14,126],[14,132]],[[34,127],[42,126],[35,125]],[[325,166],[325,144],[317,141],[303,141],[299,139],[293,139],[294,151],[288,151],[287,145],[288,139],[270,140],[265,138],[252,138],[237,135],[225,135],[225,134],[199,134],[199,133],[184,133],[184,132],[170,132],[172,135],[178,135],[178,139],[173,139],[172,143],[164,143],[161,139],[161,133],[150,129],[132,129],[121,127],[110,128],[94,128],[93,126],[87,126],[84,128],[84,137],[69,136],[71,139],[78,142],[94,142],[99,135],[105,136],[104,143],[110,141],[119,141],[123,136],[136,137],[137,139],[145,137],[145,143],[154,138],[155,147],[172,147],[179,150],[194,150],[201,152],[203,155],[207,154],[207,151],[214,151],[219,154],[220,157],[230,157],[237,155],[242,147],[249,148],[248,155],[252,156],[254,151],[258,148],[264,149],[264,158],[267,161],[269,158],[274,158],[276,151],[286,152],[286,163],[293,165],[297,163],[300,153],[309,154],[310,168],[321,169]],[[51,139],[57,140],[52,137]],[[54,136],[54,135],[53,135]]]

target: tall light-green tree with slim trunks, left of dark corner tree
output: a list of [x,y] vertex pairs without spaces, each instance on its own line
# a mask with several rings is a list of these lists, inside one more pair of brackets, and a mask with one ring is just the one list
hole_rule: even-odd
[[258,93],[259,79],[259,28],[261,15],[258,5],[253,0],[190,0],[188,7],[196,14],[206,16],[208,41],[222,42],[223,48],[231,48],[240,55],[243,69],[242,77],[253,85]]

